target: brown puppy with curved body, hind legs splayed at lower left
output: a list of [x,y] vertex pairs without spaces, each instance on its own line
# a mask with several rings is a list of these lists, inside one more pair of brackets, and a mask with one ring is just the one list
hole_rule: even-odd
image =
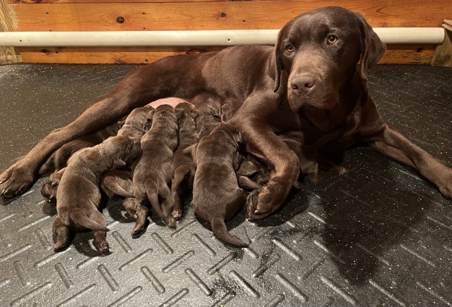
[[105,237],[108,228],[99,211],[99,184],[108,170],[131,163],[141,153],[138,139],[110,137],[99,145],[82,149],[69,158],[57,191],[57,218],[52,225],[54,250],[69,244],[71,231],[93,230],[94,245],[100,253],[107,253]]

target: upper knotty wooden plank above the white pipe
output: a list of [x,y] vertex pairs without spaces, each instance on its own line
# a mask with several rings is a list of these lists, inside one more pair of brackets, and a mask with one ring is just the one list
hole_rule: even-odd
[[[300,13],[338,1],[212,1],[167,3],[9,4],[16,31],[279,29]],[[373,27],[440,27],[450,0],[341,1]],[[124,23],[117,23],[117,18]]]

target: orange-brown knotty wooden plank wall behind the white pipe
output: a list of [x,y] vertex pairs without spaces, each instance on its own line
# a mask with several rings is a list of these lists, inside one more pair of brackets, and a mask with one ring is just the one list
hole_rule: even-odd
[[[4,1],[4,0],[3,0]],[[280,29],[319,6],[362,13],[373,27],[441,27],[450,0],[7,0],[13,31]],[[121,20],[124,20],[122,23]],[[391,45],[381,63],[430,63],[434,45]],[[25,63],[150,63],[220,47],[19,48]]]

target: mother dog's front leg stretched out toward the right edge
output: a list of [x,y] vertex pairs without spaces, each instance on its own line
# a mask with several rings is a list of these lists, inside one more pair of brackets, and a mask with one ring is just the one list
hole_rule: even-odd
[[452,199],[452,169],[429,153],[412,144],[394,127],[383,124],[383,129],[364,140],[375,151],[414,168],[438,187],[446,197]]

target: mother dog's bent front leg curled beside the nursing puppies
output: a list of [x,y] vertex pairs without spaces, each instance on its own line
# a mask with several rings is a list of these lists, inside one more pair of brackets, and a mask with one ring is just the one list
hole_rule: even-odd
[[[251,118],[239,127],[245,137],[246,150],[257,156],[271,170],[266,187],[246,199],[246,217],[265,218],[285,201],[299,175],[297,155],[259,118]],[[240,126],[240,123],[237,123]]]

